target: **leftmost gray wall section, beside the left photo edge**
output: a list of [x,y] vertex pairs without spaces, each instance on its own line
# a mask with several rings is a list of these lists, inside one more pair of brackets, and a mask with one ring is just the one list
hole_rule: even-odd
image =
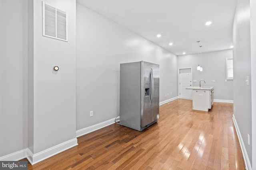
[[0,157],[24,149],[22,1],[0,1]]

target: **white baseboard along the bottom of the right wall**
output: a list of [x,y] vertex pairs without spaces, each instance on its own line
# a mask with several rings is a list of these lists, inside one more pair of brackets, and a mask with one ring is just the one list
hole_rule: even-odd
[[238,125],[236,123],[236,118],[235,118],[234,114],[233,114],[233,122],[234,122],[234,125],[235,125],[235,128],[236,128],[236,133],[237,133],[238,140],[239,140],[241,150],[242,150],[242,154],[243,154],[243,157],[244,157],[244,163],[245,163],[246,170],[252,170],[252,165],[250,163],[248,154],[246,152],[246,149],[245,149],[245,146],[244,146],[244,141],[242,139],[241,133],[240,133],[239,128],[238,128]]

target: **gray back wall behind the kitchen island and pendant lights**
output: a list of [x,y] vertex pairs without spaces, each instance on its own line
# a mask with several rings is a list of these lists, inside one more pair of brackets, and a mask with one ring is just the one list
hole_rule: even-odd
[[[197,47],[197,46],[196,46]],[[203,47],[202,47],[203,48]],[[226,58],[233,56],[233,50],[202,53],[199,64],[203,71],[196,69],[198,54],[178,56],[178,68],[192,67],[193,86],[199,86],[199,80],[204,79],[202,86],[214,86],[214,100],[233,100],[233,80],[226,80]],[[215,80],[215,82],[212,82]]]

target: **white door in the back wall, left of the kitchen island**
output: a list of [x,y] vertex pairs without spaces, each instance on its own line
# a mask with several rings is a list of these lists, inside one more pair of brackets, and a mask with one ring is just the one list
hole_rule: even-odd
[[180,98],[192,99],[192,90],[186,89],[188,87],[192,87],[192,73],[180,71]]

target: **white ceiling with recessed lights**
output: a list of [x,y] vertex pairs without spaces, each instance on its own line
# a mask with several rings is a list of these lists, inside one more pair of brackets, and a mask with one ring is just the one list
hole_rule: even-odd
[[[77,0],[175,55],[232,45],[236,0]],[[211,25],[205,25],[212,21]],[[156,37],[161,34],[161,37]],[[172,42],[173,45],[169,45]]]

